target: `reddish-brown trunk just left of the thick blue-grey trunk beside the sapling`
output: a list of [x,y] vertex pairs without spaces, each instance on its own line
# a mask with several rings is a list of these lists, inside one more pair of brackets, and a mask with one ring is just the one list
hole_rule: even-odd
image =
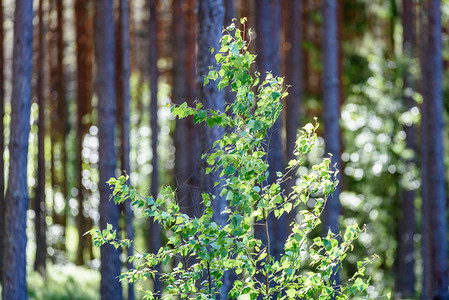
[[76,87],[76,165],[77,165],[77,189],[78,189],[78,215],[76,224],[78,229],[78,248],[76,264],[84,264],[83,252],[86,249],[86,237],[83,234],[88,230],[86,218],[84,217],[84,194],[82,183],[83,171],[83,139],[89,128],[86,116],[92,110],[92,18],[89,15],[91,0],[75,0],[75,31],[76,31],[76,65],[77,65],[77,87]]

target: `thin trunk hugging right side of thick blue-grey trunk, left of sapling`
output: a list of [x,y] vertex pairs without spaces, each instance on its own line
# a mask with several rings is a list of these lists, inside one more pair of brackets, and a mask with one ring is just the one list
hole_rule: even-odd
[[[120,0],[118,8],[117,22],[117,40],[116,40],[116,102],[117,102],[117,125],[120,128],[120,162],[121,169],[126,174],[130,174],[131,167],[129,161],[129,115],[130,115],[130,88],[129,78],[131,72],[130,57],[130,31],[129,31],[129,6],[128,0]],[[125,231],[130,240],[134,240],[134,228],[132,225],[133,212],[131,202],[124,204],[125,211]],[[128,256],[133,255],[131,247],[128,249]],[[132,269],[132,263],[128,263],[128,269]],[[134,287],[128,285],[128,300],[135,299]]]

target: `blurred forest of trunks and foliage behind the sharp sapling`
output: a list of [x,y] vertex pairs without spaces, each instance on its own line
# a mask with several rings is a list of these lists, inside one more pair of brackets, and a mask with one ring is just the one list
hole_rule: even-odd
[[[5,299],[133,299],[138,286],[160,284],[112,284],[118,274],[100,265],[121,259],[124,270],[125,252],[100,255],[84,233],[108,221],[136,249],[166,241],[137,210],[108,202],[106,181],[123,171],[142,192],[175,187],[182,209],[199,213],[201,192],[211,190],[201,176],[210,143],[167,104],[214,105],[211,93],[219,105],[232,101],[202,78],[221,29],[240,17],[253,31],[246,39],[257,71],[289,85],[270,143],[273,174],[291,159],[297,130],[318,117],[319,147],[308,161],[331,153],[341,176],[323,227],[366,224],[340,276],[377,254],[369,299],[448,299],[449,1],[0,4]],[[277,230],[274,245],[287,234]]]

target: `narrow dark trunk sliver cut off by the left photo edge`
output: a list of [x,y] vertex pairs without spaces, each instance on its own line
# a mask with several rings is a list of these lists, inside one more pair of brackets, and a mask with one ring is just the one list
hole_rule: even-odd
[[[3,54],[3,0],[0,0],[0,233],[5,233],[5,161],[3,152],[5,149],[5,135],[3,118],[5,116],[4,93],[4,54]],[[3,239],[0,241],[0,282],[3,282]]]

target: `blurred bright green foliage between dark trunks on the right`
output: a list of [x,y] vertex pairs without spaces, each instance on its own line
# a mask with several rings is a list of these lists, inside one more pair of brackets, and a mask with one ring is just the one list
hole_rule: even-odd
[[[416,154],[407,148],[403,127],[419,124],[421,99],[414,90],[403,88],[403,69],[409,67],[416,75],[416,62],[400,57],[386,60],[379,53],[368,57],[368,66],[371,76],[363,83],[352,84],[342,107],[347,190],[340,200],[348,221],[368,224],[366,233],[356,242],[356,248],[363,250],[354,251],[348,261],[370,253],[380,256],[372,266],[376,276],[370,297],[376,298],[394,288],[397,241],[391,233],[397,232],[395,220],[402,213],[398,194],[402,189],[417,190],[420,186]],[[412,96],[416,104],[406,107],[404,96]],[[420,202],[416,202],[418,207]]]

